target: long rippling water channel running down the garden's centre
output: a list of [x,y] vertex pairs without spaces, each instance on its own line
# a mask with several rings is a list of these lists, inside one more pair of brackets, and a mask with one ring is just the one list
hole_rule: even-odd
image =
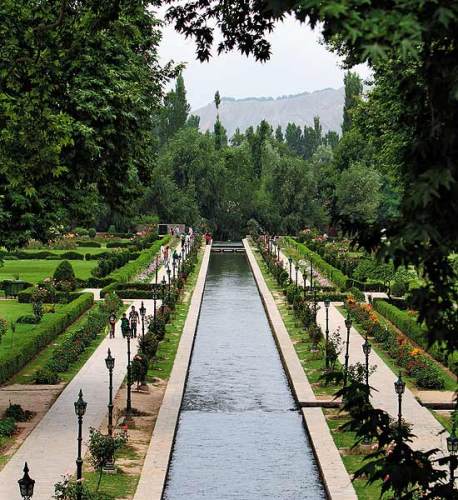
[[244,255],[211,256],[163,498],[325,498]]

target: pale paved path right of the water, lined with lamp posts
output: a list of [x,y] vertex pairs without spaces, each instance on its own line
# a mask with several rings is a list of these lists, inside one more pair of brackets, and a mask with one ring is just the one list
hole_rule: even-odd
[[[285,269],[289,273],[289,263],[287,257],[280,252],[280,258],[285,263]],[[293,268],[291,277],[294,280],[295,270]],[[301,278],[301,275],[298,276]],[[303,280],[302,280],[303,283]],[[381,294],[372,294],[373,296],[381,296]],[[383,294],[385,295],[385,294]],[[329,331],[334,332],[338,328],[342,340],[346,338],[345,317],[337,309],[338,304],[331,304],[329,307]],[[324,303],[319,303],[317,315],[318,324],[323,332],[326,328],[326,312]],[[350,347],[349,347],[349,363],[355,364],[360,362],[365,363],[365,356],[362,350],[364,338],[356,331],[355,328],[350,330]],[[339,361],[345,362],[345,349],[339,356]],[[385,362],[372,350],[369,358],[370,365],[376,365],[377,370],[370,378],[370,385],[374,390],[372,393],[372,404],[376,408],[381,408],[387,411],[393,418],[397,418],[398,414],[398,399],[394,391],[394,382],[398,378],[398,374],[393,373]],[[412,432],[415,434],[414,447],[420,450],[429,450],[439,448],[444,453],[447,451],[447,433],[440,434],[443,431],[442,425],[434,418],[430,411],[424,408],[416,399],[412,391],[407,387],[402,398],[402,415],[406,422],[412,424]]]

